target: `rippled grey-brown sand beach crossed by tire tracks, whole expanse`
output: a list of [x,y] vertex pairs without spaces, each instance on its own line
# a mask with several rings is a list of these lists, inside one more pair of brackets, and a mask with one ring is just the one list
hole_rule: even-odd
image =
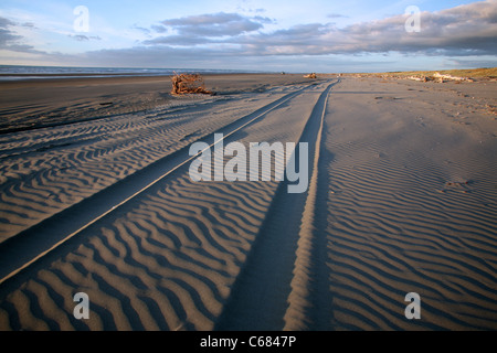
[[[205,82],[0,84],[0,330],[497,329],[497,83]],[[193,182],[214,132],[308,142],[307,192]]]

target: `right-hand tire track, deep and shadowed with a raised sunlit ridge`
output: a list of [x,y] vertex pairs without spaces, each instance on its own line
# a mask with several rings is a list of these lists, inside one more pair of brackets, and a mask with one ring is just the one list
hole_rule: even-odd
[[314,281],[324,278],[326,269],[320,261],[322,246],[316,237],[322,225],[317,224],[320,217],[316,217],[315,205],[324,117],[330,89],[338,83],[324,89],[299,139],[309,143],[309,188],[305,193],[289,194],[287,181],[278,185],[216,330],[320,327],[327,310],[321,307],[320,286]]

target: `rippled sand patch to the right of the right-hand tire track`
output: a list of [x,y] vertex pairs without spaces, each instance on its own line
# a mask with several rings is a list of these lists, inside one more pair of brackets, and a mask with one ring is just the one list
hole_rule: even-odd
[[[420,111],[413,110],[414,120]],[[327,231],[331,325],[495,330],[496,164],[482,152],[464,158],[462,147],[469,141],[434,149],[440,135],[411,128],[411,115],[402,122],[410,136],[396,140],[398,119],[380,120],[384,115],[374,109],[364,115],[368,120],[350,110],[335,113],[327,120],[335,126],[327,136],[334,156]],[[356,136],[341,129],[346,119],[362,121]],[[383,122],[383,133],[369,132]],[[414,150],[416,140],[425,142]],[[422,320],[403,315],[411,291],[421,296]]]

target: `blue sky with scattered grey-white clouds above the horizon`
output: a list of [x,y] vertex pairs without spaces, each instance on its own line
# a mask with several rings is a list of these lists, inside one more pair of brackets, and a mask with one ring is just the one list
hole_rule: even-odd
[[0,1],[0,65],[347,73],[496,54],[497,0]]

